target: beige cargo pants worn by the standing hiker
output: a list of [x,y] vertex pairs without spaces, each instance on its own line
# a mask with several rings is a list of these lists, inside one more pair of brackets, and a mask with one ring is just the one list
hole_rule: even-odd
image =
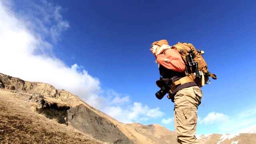
[[195,136],[197,109],[202,96],[198,86],[179,90],[174,96],[175,137],[180,144],[204,144]]

